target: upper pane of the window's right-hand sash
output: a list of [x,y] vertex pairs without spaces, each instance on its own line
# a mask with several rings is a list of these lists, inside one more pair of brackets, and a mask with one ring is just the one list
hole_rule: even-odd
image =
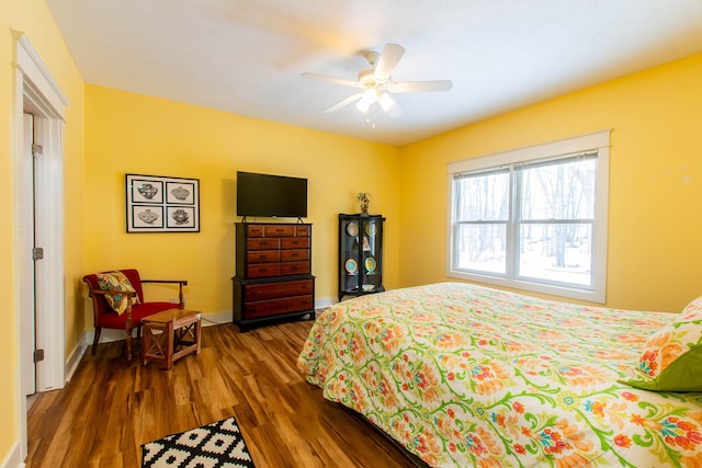
[[592,219],[596,170],[593,158],[521,168],[521,219]]

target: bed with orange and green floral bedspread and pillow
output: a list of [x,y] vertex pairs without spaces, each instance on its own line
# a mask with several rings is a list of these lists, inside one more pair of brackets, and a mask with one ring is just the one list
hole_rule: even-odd
[[702,298],[630,311],[439,283],[330,307],[297,366],[432,467],[702,467],[700,330]]

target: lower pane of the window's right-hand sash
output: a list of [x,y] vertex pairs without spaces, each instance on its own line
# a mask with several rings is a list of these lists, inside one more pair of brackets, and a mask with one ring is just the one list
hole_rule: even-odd
[[591,253],[590,224],[520,225],[519,276],[590,286]]

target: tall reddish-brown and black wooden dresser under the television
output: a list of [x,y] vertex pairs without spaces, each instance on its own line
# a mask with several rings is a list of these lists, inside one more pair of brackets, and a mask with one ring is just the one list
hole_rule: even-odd
[[242,332],[282,318],[315,318],[312,225],[236,224],[234,322]]

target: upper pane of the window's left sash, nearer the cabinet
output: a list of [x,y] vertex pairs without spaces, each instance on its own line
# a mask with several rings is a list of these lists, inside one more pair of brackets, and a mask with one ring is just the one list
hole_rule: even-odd
[[509,170],[461,175],[454,180],[456,219],[503,221],[509,213]]

